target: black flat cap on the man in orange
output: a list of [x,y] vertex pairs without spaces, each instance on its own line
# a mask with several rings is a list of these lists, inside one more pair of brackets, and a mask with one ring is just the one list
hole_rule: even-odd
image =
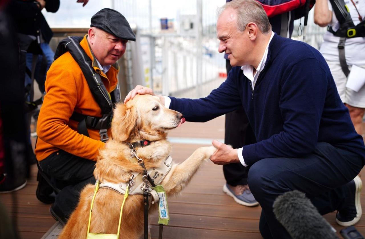
[[93,15],[91,18],[91,26],[122,39],[136,40],[136,36],[129,26],[127,19],[120,12],[110,8],[103,8]]

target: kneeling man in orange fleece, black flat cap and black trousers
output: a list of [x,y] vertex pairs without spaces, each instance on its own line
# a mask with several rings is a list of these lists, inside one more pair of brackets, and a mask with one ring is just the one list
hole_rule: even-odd
[[[135,35],[126,18],[118,11],[104,8],[91,18],[91,28],[80,41],[80,47],[92,60],[89,67],[99,73],[108,93],[119,91],[116,62],[126,51],[128,40],[135,41]],[[80,68],[81,63],[70,52],[58,55],[56,51],[55,59],[58,58],[47,72],[35,154],[42,171],[54,186],[61,189],[50,212],[65,224],[78,203],[81,189],[87,183],[95,183],[94,165],[99,149],[104,147],[101,140],[106,133],[102,135],[101,130],[88,126],[87,130],[85,128],[87,132],[78,132],[79,122],[74,120],[73,114],[101,118],[103,110],[93,97]],[[107,133],[111,135],[110,129]],[[38,199],[51,203],[52,198],[47,196],[50,192],[42,190],[40,181],[36,193]]]

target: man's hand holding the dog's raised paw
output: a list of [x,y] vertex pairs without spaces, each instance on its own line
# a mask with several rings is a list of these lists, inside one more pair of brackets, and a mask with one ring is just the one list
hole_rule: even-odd
[[214,164],[224,165],[240,162],[237,155],[237,149],[217,140],[213,140],[212,145],[217,148],[217,151],[210,157],[210,160]]

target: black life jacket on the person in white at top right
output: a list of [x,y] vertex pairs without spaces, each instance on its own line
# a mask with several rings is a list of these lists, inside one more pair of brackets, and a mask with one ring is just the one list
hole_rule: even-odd
[[349,8],[343,0],[330,0],[333,11],[336,15],[340,27],[337,31],[334,31],[332,27],[328,28],[328,31],[333,33],[337,37],[353,38],[353,37],[365,37],[365,20],[362,20],[358,25],[354,25],[351,19]]

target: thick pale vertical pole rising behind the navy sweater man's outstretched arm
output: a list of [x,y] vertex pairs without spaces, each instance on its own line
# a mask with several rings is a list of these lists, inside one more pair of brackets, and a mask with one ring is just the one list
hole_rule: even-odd
[[202,0],[196,0],[196,93],[197,98],[201,97],[201,61],[202,61],[202,51],[201,51],[201,39],[203,34],[202,27]]

